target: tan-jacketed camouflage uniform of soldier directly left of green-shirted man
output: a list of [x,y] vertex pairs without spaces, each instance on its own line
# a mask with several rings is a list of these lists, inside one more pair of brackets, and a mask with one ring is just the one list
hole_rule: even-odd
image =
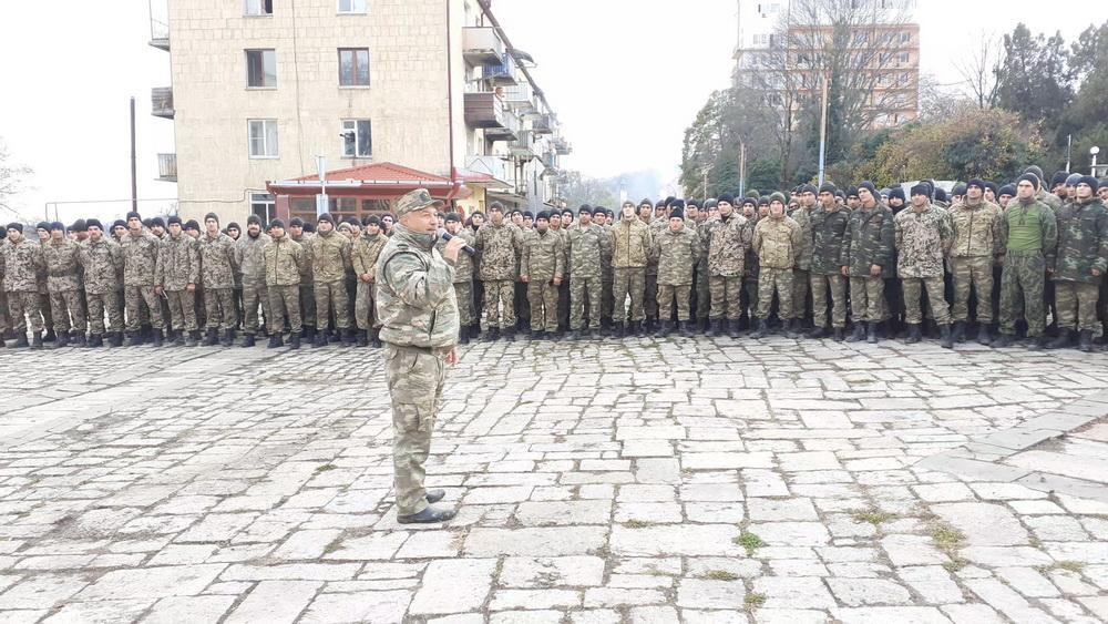
[[970,320],[970,290],[977,295],[977,321],[993,323],[993,264],[1001,247],[1001,206],[968,198],[950,209],[954,227],[951,247],[951,274],[954,276],[954,301],[951,317],[955,323]]

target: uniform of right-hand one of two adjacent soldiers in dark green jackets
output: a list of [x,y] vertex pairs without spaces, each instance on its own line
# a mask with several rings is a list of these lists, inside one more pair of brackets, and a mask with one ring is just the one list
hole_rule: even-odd
[[[884,279],[895,273],[895,249],[892,211],[879,204],[851,213],[839,264],[850,274],[850,315],[855,324],[889,318]],[[872,265],[881,267],[878,277],[870,275]]]

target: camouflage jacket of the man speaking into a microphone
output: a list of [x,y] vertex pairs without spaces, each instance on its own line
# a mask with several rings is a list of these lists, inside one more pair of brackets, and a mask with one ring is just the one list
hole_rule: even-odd
[[434,249],[434,242],[432,235],[392,226],[392,237],[377,258],[381,340],[423,348],[449,348],[458,341],[454,267]]

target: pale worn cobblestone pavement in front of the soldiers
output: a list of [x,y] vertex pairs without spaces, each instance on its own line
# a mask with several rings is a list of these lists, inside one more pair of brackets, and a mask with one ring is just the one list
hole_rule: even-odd
[[1108,620],[1101,355],[474,345],[418,529],[380,351],[0,371],[2,622]]

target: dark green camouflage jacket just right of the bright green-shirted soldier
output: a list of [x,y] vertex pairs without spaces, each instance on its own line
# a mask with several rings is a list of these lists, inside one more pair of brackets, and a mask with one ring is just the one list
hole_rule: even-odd
[[[1057,217],[1058,254],[1051,278],[1099,284],[1108,273],[1108,208],[1096,198],[1071,202],[1058,211]],[[1092,269],[1100,276],[1094,276]]]

